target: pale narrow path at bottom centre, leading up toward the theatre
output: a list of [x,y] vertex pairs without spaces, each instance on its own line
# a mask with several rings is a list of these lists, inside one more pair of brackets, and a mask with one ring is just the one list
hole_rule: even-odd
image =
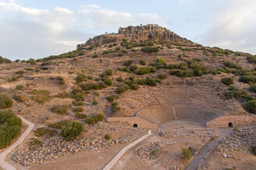
[[130,147],[133,147],[134,145],[140,143],[141,141],[143,141],[144,139],[146,139],[151,135],[152,134],[146,134],[143,137],[140,137],[139,139],[137,139],[136,141],[133,141],[133,143],[128,144],[126,147],[123,147],[123,149],[119,151],[118,154],[116,154],[116,157],[112,158],[112,160],[109,161],[108,165],[106,165],[105,168],[103,168],[103,170],[110,170],[116,164],[116,162],[119,161],[119,159],[123,156],[123,154],[125,154],[126,151],[130,149]]

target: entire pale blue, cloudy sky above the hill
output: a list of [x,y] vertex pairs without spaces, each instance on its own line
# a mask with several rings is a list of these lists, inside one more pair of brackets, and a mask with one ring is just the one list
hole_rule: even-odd
[[256,54],[255,0],[0,0],[0,56],[62,54],[120,26],[148,23],[204,46]]

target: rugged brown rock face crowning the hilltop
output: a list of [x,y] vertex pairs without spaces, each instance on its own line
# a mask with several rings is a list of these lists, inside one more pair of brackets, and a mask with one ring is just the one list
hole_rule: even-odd
[[190,40],[182,38],[168,29],[161,26],[148,24],[146,26],[128,26],[126,28],[119,28],[118,33],[105,34],[101,36],[94,36],[93,39],[87,40],[83,46],[96,46],[106,43],[127,40],[152,40],[155,42],[171,42],[190,45],[193,44]]

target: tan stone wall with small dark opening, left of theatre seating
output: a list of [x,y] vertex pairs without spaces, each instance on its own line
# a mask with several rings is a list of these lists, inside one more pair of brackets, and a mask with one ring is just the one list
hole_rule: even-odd
[[131,126],[137,124],[138,128],[143,129],[157,129],[158,125],[148,122],[147,120],[143,120],[140,117],[108,117],[108,122],[126,122]]

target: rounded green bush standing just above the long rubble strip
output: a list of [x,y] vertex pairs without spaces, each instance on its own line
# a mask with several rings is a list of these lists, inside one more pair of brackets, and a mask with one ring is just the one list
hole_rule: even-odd
[[62,134],[62,137],[71,139],[73,137],[79,136],[83,130],[84,130],[84,126],[82,123],[78,121],[69,121],[62,128],[61,134]]

